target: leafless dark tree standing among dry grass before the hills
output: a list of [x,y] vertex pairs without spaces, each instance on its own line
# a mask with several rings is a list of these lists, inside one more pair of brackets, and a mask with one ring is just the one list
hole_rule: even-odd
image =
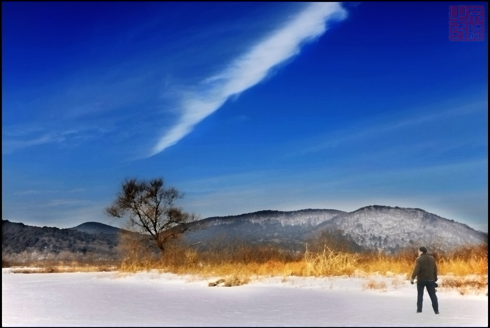
[[115,219],[127,219],[133,229],[155,241],[162,255],[169,241],[197,228],[195,214],[174,206],[184,194],[173,187],[165,188],[163,178],[127,179],[121,187],[106,213]]

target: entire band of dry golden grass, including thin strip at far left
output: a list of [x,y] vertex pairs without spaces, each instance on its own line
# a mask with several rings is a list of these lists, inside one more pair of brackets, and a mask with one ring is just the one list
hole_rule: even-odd
[[[212,245],[212,243],[208,244]],[[158,270],[160,272],[189,274],[206,279],[223,278],[233,285],[244,284],[259,276],[370,276],[379,274],[394,277],[392,285],[400,287],[409,279],[416,258],[416,249],[396,255],[379,252],[335,251],[316,247],[316,251],[291,252],[274,246],[250,246],[243,242],[216,243],[205,250],[179,244],[169,245],[163,256],[151,253],[134,241],[123,245],[124,259],[117,263],[33,263],[37,269],[14,268],[17,273],[94,272],[114,271],[134,273]],[[434,255],[438,273],[444,276],[439,288],[488,288],[488,246],[473,246],[451,253],[438,252]],[[472,278],[473,277],[473,278]],[[476,277],[476,278],[474,278]],[[234,282],[233,282],[234,281]],[[367,287],[373,289],[376,287]],[[377,288],[380,289],[380,288]],[[382,288],[381,288],[382,289]]]

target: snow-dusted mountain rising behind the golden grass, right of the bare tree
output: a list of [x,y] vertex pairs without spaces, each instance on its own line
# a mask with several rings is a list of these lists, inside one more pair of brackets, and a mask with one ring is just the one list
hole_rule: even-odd
[[260,211],[204,219],[206,228],[189,233],[190,242],[238,239],[299,249],[324,230],[342,231],[367,249],[396,251],[407,246],[450,249],[475,245],[484,235],[466,224],[417,208],[367,206],[347,213],[338,210]]

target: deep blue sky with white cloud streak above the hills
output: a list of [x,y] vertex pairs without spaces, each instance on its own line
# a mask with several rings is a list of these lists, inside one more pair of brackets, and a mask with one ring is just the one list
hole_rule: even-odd
[[455,4],[2,2],[2,218],[109,223],[123,179],[162,176],[203,218],[487,231],[488,41],[448,39]]

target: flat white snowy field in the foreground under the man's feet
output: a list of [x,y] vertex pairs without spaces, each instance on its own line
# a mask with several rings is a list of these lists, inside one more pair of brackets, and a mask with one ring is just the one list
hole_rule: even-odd
[[[373,279],[373,278],[370,278]],[[239,287],[207,287],[155,273],[10,273],[2,269],[5,326],[485,326],[488,297],[438,291],[440,314],[415,285],[375,277],[263,278]],[[209,280],[211,281],[211,280]]]

